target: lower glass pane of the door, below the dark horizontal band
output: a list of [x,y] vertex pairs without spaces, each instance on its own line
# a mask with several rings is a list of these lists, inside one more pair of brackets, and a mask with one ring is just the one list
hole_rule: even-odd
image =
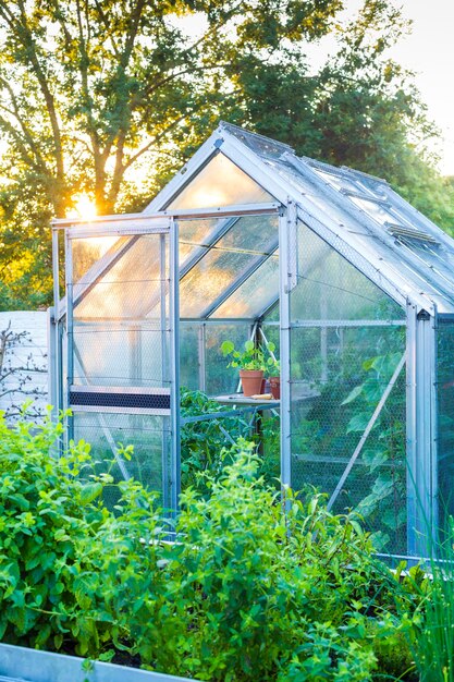
[[[73,422],[75,440],[83,438],[91,444],[93,473],[113,476],[112,486],[105,488],[105,502],[110,509],[120,497],[116,484],[126,477],[162,492],[162,463],[168,458],[170,440],[168,417],[76,413]],[[120,458],[112,450],[119,443],[134,446],[131,460]]]

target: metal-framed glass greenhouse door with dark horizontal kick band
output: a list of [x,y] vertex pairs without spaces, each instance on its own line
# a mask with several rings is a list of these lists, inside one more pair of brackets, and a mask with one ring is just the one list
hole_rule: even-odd
[[[168,218],[66,231],[70,436],[91,444],[95,473],[134,477],[168,509],[177,495],[173,243]],[[112,485],[108,503],[118,495]]]

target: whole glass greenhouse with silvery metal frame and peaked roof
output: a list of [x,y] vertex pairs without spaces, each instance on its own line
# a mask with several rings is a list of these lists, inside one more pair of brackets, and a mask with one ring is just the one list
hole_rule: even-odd
[[[100,465],[176,509],[188,425],[279,419],[284,486],[426,555],[454,512],[454,241],[385,181],[221,123],[144,212],[56,220],[53,254],[52,404]],[[279,356],[279,401],[242,399],[225,340]]]

